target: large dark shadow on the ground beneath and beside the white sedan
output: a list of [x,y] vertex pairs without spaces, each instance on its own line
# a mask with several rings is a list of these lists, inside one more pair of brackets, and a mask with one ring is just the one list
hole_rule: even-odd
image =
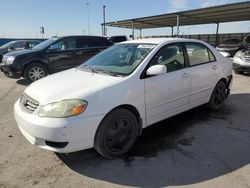
[[[106,160],[94,149],[57,156],[91,178],[135,187],[199,183],[250,162],[249,94],[234,94],[219,111],[201,106],[143,130],[123,158]],[[240,118],[239,118],[240,117]]]

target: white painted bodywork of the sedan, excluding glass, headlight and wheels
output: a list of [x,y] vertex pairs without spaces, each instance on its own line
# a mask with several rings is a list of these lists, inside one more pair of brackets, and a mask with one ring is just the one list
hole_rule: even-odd
[[[198,42],[207,46],[217,61],[141,79],[151,58],[163,46],[176,42]],[[131,105],[137,109],[145,128],[160,120],[207,103],[216,83],[232,75],[232,63],[205,42],[191,39],[160,38],[127,41],[157,46],[126,77],[114,77],[70,69],[38,80],[24,93],[39,102],[33,113],[22,109],[20,99],[14,105],[15,119],[23,135],[32,144],[56,152],[74,152],[94,146],[101,121],[112,109]],[[47,118],[39,110],[62,99],[83,99],[86,110],[78,116]],[[68,142],[64,148],[46,145],[45,140]]]

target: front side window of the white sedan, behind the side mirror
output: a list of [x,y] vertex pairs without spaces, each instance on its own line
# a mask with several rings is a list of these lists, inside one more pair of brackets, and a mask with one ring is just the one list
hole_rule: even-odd
[[185,66],[184,62],[181,47],[178,44],[174,44],[161,48],[150,61],[150,66],[165,65],[167,72],[173,72],[183,69]]

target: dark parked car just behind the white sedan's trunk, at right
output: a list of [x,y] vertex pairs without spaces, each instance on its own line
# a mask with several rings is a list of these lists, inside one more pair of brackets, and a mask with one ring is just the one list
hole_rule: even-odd
[[227,39],[222,42],[216,49],[220,52],[226,52],[230,57],[233,57],[236,52],[243,48],[242,41],[239,39]]

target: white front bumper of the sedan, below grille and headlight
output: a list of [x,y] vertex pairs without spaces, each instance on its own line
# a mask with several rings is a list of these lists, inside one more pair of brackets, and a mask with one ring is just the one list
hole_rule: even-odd
[[20,131],[31,144],[59,153],[92,148],[96,130],[104,117],[42,118],[35,112],[23,111],[19,100],[14,105],[14,113]]

